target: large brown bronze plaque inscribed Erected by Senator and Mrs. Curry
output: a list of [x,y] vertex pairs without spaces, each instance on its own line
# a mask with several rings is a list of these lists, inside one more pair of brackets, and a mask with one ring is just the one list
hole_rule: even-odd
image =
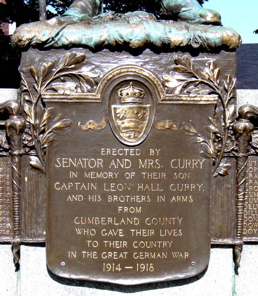
[[193,120],[201,131],[215,103],[162,104],[143,79],[120,77],[101,102],[46,105],[71,120],[47,151],[50,270],[119,284],[203,271],[212,160],[181,128]]

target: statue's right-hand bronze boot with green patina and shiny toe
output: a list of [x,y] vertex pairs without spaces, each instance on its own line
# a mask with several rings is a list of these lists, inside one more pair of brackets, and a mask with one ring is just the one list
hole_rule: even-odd
[[190,23],[221,25],[220,14],[202,8],[197,0],[161,0],[161,15]]

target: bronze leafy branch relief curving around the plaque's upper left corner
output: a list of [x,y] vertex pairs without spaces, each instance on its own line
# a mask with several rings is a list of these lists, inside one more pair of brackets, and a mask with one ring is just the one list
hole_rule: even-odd
[[[76,92],[77,87],[80,87],[81,91],[88,91],[88,89],[94,87],[95,82],[92,78],[98,77],[99,73],[92,73],[84,69],[73,70],[74,66],[82,62],[84,58],[84,54],[71,52],[65,54],[58,64],[56,61],[51,61],[48,64],[41,64],[39,69],[37,69],[36,65],[30,67],[30,74],[36,83],[33,85],[34,91],[21,73],[20,91],[22,94],[23,116],[29,125],[29,138],[31,139],[28,148],[34,146],[37,155],[37,159],[30,162],[30,165],[41,169],[44,173],[46,173],[46,148],[52,145],[55,135],[65,134],[68,131],[71,120],[63,118],[62,114],[53,119],[52,108],[45,109],[41,104],[41,94],[43,91],[54,89],[58,94],[70,95]],[[76,83],[66,81],[67,77],[71,76],[77,78],[79,86]],[[59,82],[59,79],[62,83]],[[46,129],[47,125],[48,129]]]

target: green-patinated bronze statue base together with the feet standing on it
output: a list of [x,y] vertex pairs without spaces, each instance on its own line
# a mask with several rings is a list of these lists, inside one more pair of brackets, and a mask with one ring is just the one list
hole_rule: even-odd
[[156,20],[147,12],[116,14],[100,12],[102,1],[76,0],[61,17],[45,22],[21,25],[12,35],[12,45],[27,49],[86,46],[141,48],[201,48],[236,49],[241,37],[231,28],[221,26],[218,12],[203,9],[197,0],[161,1],[166,17]]

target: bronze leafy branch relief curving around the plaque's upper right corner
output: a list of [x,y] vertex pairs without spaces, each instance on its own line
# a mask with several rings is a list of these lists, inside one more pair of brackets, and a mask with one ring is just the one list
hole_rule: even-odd
[[[208,67],[201,69],[195,63],[191,62],[188,57],[184,59],[175,58],[175,65],[169,75],[162,76],[163,85],[166,86],[167,93],[179,95],[183,89],[190,94],[190,97],[197,95],[216,94],[219,98],[219,104],[215,113],[208,118],[209,126],[206,128],[209,134],[200,133],[192,123],[183,123],[181,131],[192,136],[192,143],[202,143],[203,150],[200,155],[206,158],[212,158],[214,161],[213,177],[227,175],[228,169],[231,168],[229,163],[222,162],[225,152],[233,150],[234,146],[228,149],[230,141],[230,125],[236,119],[235,110],[235,90],[236,79],[232,75],[221,74],[221,69],[217,67],[214,61],[210,62]],[[224,124],[222,124],[222,122]]]

